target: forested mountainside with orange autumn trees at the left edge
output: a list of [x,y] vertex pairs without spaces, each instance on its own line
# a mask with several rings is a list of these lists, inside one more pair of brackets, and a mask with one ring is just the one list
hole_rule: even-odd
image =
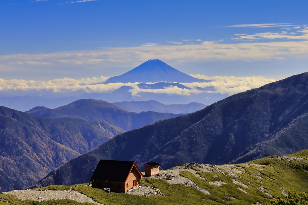
[[41,118],[0,106],[0,191],[33,185],[122,132],[106,122]]

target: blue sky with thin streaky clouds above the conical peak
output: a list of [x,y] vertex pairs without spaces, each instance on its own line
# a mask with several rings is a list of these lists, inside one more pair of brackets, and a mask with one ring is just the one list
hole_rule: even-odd
[[0,78],[3,86],[105,78],[160,59],[187,74],[279,80],[308,71],[307,8],[282,0],[1,0]]

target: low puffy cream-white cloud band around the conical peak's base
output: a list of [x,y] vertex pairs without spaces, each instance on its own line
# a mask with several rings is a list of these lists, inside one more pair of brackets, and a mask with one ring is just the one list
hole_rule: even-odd
[[[190,96],[192,94],[200,94],[204,92],[214,92],[221,94],[235,94],[246,91],[252,88],[258,88],[270,82],[274,82],[274,79],[267,79],[264,77],[234,77],[234,76],[204,76],[204,75],[191,75],[193,77],[212,80],[211,82],[203,83],[181,83],[182,85],[191,89],[181,89],[177,86],[170,86],[164,89],[140,89],[136,83],[109,83],[102,84],[109,77],[99,78],[62,78],[54,79],[50,81],[26,81],[26,80],[5,80],[0,78],[0,92],[14,92],[14,91],[44,91],[53,93],[73,93],[73,92],[84,92],[84,93],[111,93],[112,91],[119,89],[122,86],[130,86],[132,89],[129,92],[132,96],[139,96],[140,93],[165,93],[174,95],[185,95]],[[154,82],[155,83],[155,82]],[[150,83],[153,84],[153,83]],[[215,91],[202,91],[197,88],[213,87]]]

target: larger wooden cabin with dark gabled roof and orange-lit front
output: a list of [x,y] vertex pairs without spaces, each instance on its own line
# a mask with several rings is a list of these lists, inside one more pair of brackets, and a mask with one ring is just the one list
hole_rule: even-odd
[[133,161],[100,160],[92,177],[92,187],[110,188],[111,192],[127,192],[140,186],[143,175]]

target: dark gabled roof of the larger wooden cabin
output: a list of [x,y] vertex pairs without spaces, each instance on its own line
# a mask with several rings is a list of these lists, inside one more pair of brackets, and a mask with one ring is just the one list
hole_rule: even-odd
[[134,166],[143,177],[140,169],[133,161],[99,160],[91,180],[125,182]]

